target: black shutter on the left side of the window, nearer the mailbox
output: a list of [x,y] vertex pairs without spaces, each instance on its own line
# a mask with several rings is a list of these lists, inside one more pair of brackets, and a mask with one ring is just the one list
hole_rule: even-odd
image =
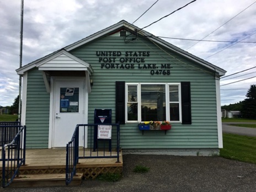
[[125,82],[115,82],[115,121],[125,124]]

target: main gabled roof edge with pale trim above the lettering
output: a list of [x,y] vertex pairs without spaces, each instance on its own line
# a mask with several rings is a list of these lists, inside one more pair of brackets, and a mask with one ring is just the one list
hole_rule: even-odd
[[209,68],[212,71],[215,71],[216,73],[218,73],[218,76],[223,76],[226,73],[226,71],[223,70],[222,68],[217,67],[215,65],[212,65],[211,63],[209,63],[205,60],[202,60],[201,58],[196,57],[196,56],[190,54],[189,52],[186,52],[186,51],[180,49],[179,47],[174,46],[174,45],[170,44],[169,42],[164,41],[164,40],[158,38],[157,36],[152,35],[151,33],[148,33],[145,30],[141,30],[137,26],[132,25],[132,24],[126,22],[125,20],[121,20],[119,23],[116,23],[114,25],[109,26],[108,28],[105,28],[101,31],[98,31],[97,33],[94,33],[94,34],[88,36],[87,38],[81,39],[77,42],[74,42],[71,45],[63,47],[63,49],[58,50],[56,52],[53,52],[52,54],[47,55],[45,57],[42,57],[39,60],[31,62],[28,65],[25,65],[25,66],[19,68],[16,71],[17,71],[18,74],[23,74],[25,71],[29,70],[30,68],[36,67],[38,65],[38,63],[45,62],[45,60],[48,60],[50,57],[58,54],[62,50],[71,51],[73,49],[76,49],[79,46],[87,44],[88,42],[91,42],[91,41],[99,39],[99,38],[103,38],[104,36],[112,34],[112,33],[116,32],[118,30],[121,30],[121,29],[125,29],[127,31],[130,31],[131,33],[136,33],[136,31],[137,31],[137,33],[139,35],[144,36],[145,38],[153,41],[154,43],[156,43],[160,46],[166,47],[170,51],[173,51],[173,52],[177,53],[178,55],[182,55],[182,56],[188,58],[188,60],[199,63],[200,65],[205,66],[206,68]]

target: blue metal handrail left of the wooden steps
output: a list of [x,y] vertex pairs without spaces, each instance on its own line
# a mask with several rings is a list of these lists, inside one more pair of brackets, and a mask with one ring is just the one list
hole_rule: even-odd
[[[0,126],[1,128],[8,129],[10,126]],[[17,127],[18,134],[13,138],[12,142],[3,145],[2,149],[2,186],[10,185],[13,179],[18,176],[20,166],[25,165],[26,154],[26,126],[11,126]]]

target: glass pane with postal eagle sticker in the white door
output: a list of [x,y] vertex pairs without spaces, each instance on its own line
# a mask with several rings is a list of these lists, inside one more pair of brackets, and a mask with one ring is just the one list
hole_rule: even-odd
[[79,112],[79,88],[60,88],[60,113]]

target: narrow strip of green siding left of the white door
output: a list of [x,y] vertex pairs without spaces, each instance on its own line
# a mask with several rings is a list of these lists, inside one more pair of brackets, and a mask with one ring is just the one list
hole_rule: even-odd
[[26,147],[48,148],[50,94],[41,71],[28,71],[26,95]]

